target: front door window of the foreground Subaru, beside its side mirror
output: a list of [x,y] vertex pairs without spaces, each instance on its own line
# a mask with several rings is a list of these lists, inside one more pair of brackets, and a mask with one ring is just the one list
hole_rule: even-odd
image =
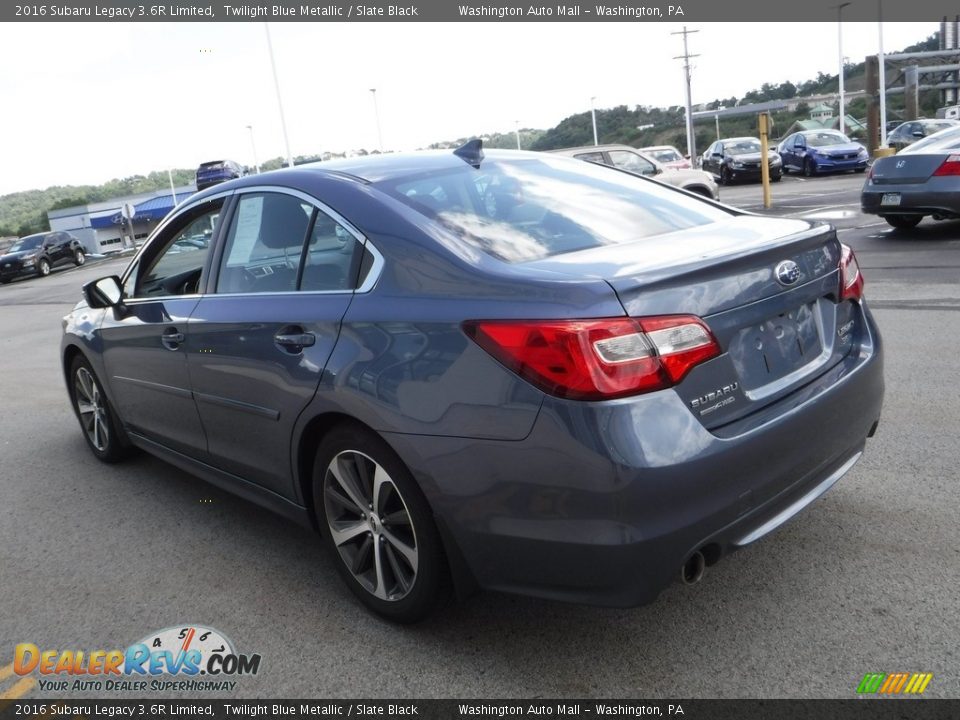
[[152,241],[139,269],[127,280],[127,295],[146,298],[198,292],[222,205],[222,199],[203,203]]

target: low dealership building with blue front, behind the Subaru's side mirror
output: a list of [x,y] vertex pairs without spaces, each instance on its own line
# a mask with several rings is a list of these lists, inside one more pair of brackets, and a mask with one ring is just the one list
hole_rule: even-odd
[[119,252],[130,245],[130,223],[123,217],[123,207],[133,207],[133,241],[143,241],[174,207],[197,191],[194,185],[175,190],[113,198],[88,205],[51,210],[47,213],[51,230],[65,230],[83,243],[88,253]]

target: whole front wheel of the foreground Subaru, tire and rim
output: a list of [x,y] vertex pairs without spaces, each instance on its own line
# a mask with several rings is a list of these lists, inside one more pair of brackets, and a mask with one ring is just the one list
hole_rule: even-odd
[[103,392],[100,379],[82,355],[70,364],[67,390],[83,437],[93,454],[107,463],[129,457],[133,447]]

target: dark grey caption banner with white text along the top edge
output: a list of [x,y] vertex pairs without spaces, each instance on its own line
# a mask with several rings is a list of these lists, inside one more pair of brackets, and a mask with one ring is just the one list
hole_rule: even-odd
[[[953,0],[855,2],[846,22],[954,19]],[[3,3],[5,22],[815,22],[837,0],[36,0]]]

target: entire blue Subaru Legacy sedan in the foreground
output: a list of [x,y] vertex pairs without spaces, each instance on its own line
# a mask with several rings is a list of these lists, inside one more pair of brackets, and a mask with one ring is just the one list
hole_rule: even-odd
[[696,582],[853,467],[883,400],[831,226],[479,141],[199,193],[64,327],[98,458],[315,528],[401,622]]

